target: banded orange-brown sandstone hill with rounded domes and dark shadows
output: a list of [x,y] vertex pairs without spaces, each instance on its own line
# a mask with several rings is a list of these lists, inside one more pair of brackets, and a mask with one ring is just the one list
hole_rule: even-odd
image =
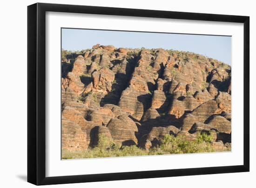
[[174,50],[100,46],[62,50],[62,149],[94,147],[104,134],[122,145],[157,146],[214,133],[231,146],[231,67]]

